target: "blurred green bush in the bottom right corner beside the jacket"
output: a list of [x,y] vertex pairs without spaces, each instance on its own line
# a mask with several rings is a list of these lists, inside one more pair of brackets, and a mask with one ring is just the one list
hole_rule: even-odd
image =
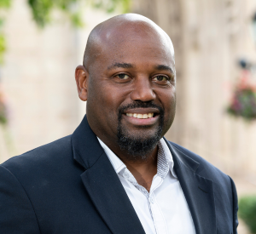
[[256,195],[241,197],[238,215],[252,233],[256,233]]

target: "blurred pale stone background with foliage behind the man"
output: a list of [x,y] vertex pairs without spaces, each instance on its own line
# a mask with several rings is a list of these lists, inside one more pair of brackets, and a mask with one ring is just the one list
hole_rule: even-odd
[[[0,0],[0,163],[73,133],[87,37],[124,12],[172,38],[177,115],[166,138],[229,174],[239,197],[255,195],[255,0]],[[250,233],[242,220],[239,233]]]

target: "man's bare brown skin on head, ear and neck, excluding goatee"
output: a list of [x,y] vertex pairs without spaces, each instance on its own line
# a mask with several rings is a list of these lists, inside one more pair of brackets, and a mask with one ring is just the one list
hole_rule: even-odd
[[[176,85],[173,47],[158,26],[138,14],[123,14],[103,22],[91,32],[84,65],[75,71],[81,100],[87,100],[86,113],[93,132],[125,163],[148,191],[157,173],[157,146],[142,159],[131,160],[117,139],[118,112],[137,101],[154,102],[165,110],[162,136],[175,115]],[[127,113],[154,113],[147,120]],[[154,136],[159,111],[154,108],[128,109],[122,113],[122,126],[131,136]],[[143,127],[142,127],[143,126]]]

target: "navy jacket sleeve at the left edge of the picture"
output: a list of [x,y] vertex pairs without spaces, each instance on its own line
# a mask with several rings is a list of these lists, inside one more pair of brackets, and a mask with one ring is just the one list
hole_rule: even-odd
[[32,203],[15,175],[0,165],[0,233],[38,234]]

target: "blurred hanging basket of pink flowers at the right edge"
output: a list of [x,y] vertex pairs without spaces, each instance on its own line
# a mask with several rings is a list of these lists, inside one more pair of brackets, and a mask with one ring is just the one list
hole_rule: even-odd
[[256,119],[256,86],[250,78],[250,71],[243,71],[240,81],[227,108],[230,115],[246,120]]

